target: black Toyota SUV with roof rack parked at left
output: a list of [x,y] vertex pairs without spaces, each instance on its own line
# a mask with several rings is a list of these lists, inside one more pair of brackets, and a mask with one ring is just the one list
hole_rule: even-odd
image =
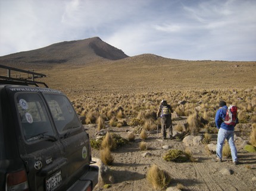
[[8,74],[0,76],[0,190],[92,190],[99,170],[68,98],[39,87],[43,74],[0,68]]

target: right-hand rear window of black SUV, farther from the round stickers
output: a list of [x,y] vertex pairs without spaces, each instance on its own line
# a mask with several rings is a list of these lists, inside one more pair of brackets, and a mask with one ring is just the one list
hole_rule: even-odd
[[44,94],[44,96],[60,134],[70,129],[80,128],[81,123],[67,97],[60,94]]

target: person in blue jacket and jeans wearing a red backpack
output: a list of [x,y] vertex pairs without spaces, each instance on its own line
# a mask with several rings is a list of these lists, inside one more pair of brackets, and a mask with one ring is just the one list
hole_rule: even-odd
[[[238,117],[236,116],[237,108],[235,106],[229,106],[227,108],[225,101],[220,101],[220,109],[217,110],[215,116],[215,123],[218,128],[218,138],[216,147],[216,160],[222,161],[222,149],[225,139],[229,142],[231,150],[233,164],[238,164],[238,151],[234,143],[234,130],[238,123]],[[232,109],[232,107],[234,107]]]

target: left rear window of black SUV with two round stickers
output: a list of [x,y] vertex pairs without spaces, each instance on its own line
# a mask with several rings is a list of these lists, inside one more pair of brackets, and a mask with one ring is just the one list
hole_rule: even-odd
[[38,93],[18,93],[16,105],[27,142],[36,141],[45,135],[54,136],[45,104]]

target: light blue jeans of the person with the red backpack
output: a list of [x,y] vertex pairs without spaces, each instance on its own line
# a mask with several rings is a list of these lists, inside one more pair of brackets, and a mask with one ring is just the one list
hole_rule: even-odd
[[222,128],[218,130],[218,139],[217,139],[217,148],[216,148],[217,157],[222,160],[222,149],[223,149],[225,139],[227,139],[227,141],[229,142],[229,147],[231,150],[231,156],[232,156],[233,162],[238,161],[238,151],[236,150],[236,146],[234,143],[233,130],[226,130]]

